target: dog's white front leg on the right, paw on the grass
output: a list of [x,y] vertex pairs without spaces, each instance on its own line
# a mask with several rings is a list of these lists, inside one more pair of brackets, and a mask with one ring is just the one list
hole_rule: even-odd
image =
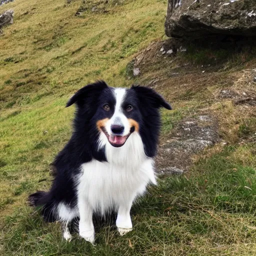
[[116,226],[120,235],[124,235],[127,232],[132,230],[132,223],[130,218],[130,208],[132,201],[129,203],[122,203],[119,206],[117,218],[116,218]]

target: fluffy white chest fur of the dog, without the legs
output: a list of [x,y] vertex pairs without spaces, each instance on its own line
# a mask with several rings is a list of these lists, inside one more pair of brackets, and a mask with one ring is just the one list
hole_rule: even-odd
[[103,139],[100,144],[106,145],[107,162],[83,163],[77,190],[94,211],[99,210],[102,214],[109,208],[132,201],[145,191],[149,182],[156,183],[153,160],[145,156],[138,133],[133,132],[119,148]]

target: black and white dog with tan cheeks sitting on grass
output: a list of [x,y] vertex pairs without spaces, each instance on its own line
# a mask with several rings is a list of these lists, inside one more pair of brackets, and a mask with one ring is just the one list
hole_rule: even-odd
[[132,229],[131,204],[148,183],[156,183],[153,157],[160,128],[159,107],[171,106],[153,89],[109,87],[104,81],[79,89],[66,106],[76,103],[74,131],[56,156],[55,177],[48,192],[29,196],[42,206],[46,220],[68,223],[79,218],[79,235],[93,243],[92,214],[114,209],[121,235]]

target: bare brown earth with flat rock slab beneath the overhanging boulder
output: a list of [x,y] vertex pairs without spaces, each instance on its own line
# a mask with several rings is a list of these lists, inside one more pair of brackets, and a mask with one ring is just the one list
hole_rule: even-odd
[[251,111],[255,106],[255,49],[228,45],[204,48],[176,39],[156,40],[128,63],[128,79],[139,70],[140,84],[156,89],[178,111],[188,109],[183,116],[190,116],[161,138],[157,173],[187,171],[196,155],[220,141],[219,134],[226,144],[240,141],[239,127],[247,131],[237,114],[241,107]]

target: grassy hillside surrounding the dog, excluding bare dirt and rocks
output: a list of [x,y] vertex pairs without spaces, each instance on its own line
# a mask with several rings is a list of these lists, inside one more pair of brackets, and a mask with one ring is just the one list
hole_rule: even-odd
[[[197,157],[189,175],[161,179],[158,187],[151,187],[132,209],[134,231],[119,237],[106,225],[97,233],[95,246],[76,235],[66,243],[58,223],[45,224],[24,206],[29,192],[48,188],[48,165],[70,135],[73,108],[64,108],[68,97],[97,78],[121,86],[136,81],[125,78],[126,64],[164,34],[163,0],[128,0],[113,4],[108,13],[75,16],[79,6],[78,0],[69,5],[63,0],[15,0],[1,7],[13,7],[15,18],[0,40],[0,252],[254,255],[255,149],[237,142],[254,129],[255,118],[229,101],[207,101],[208,94],[200,90],[193,97],[191,88],[176,91],[175,80],[158,86],[169,100],[183,93],[173,102],[175,111],[163,112],[163,134],[168,135],[177,119],[203,107],[220,116],[229,145],[217,145]],[[189,57],[202,62],[201,56]],[[161,70],[162,65],[154,70],[155,63],[138,81],[159,73],[167,76],[174,68],[165,63]],[[221,87],[217,82],[208,90]]]

